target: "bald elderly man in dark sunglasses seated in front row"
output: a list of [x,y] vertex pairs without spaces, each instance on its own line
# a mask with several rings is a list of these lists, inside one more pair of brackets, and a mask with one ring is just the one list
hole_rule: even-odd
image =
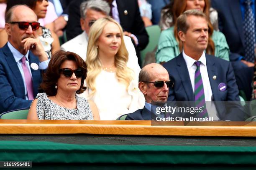
[[156,115],[153,108],[166,105],[169,89],[173,87],[167,70],[156,63],[146,65],[140,71],[138,87],[145,97],[145,106],[129,114],[125,120],[156,120],[161,115]]

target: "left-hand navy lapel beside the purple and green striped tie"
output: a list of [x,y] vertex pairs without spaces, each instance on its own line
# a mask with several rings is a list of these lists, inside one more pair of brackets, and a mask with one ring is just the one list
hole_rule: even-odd
[[177,70],[179,73],[179,77],[182,81],[182,85],[184,87],[184,90],[187,94],[187,100],[188,101],[194,101],[194,92],[191,85],[191,80],[189,77],[189,72],[187,70],[187,64],[183,58],[182,53],[178,55],[177,57]]

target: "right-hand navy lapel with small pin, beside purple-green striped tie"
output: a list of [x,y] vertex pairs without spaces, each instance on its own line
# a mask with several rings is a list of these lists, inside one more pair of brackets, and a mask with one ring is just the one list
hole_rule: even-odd
[[[218,77],[220,75],[218,75],[217,73],[217,68],[215,66],[215,62],[214,62],[214,56],[210,56],[205,54],[206,57],[206,66],[207,66],[207,72],[208,72],[208,77],[210,80],[210,85],[211,85],[211,89],[212,89],[212,95],[214,97],[215,101],[219,101],[219,95],[218,95]],[[216,76],[217,79],[213,80],[213,76]]]

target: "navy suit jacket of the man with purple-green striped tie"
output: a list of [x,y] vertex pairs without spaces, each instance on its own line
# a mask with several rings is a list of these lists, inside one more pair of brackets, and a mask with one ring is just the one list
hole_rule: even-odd
[[[231,63],[205,54],[207,72],[212,88],[212,101],[240,101],[238,96],[238,87],[236,85],[235,75]],[[182,53],[174,59],[163,65],[169,73],[170,80],[174,81],[174,87],[169,89],[168,100],[170,101],[194,101],[195,95],[192,89],[189,72]],[[213,80],[216,75],[217,79]],[[220,91],[218,85],[220,82],[225,83],[227,89]],[[244,112],[239,102],[229,103],[226,110],[224,103],[216,105],[218,117],[220,120],[243,121]]]

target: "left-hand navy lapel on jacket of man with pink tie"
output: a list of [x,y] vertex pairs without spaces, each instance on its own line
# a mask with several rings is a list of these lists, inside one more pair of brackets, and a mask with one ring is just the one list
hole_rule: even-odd
[[20,87],[23,87],[24,89],[24,84],[23,84],[23,79],[20,73],[20,70],[18,68],[18,65],[13,57],[13,53],[10,51],[9,47],[7,44],[3,47],[3,53],[5,55],[6,61],[10,67],[10,70],[13,72],[13,75],[17,79],[17,83],[19,84]]

